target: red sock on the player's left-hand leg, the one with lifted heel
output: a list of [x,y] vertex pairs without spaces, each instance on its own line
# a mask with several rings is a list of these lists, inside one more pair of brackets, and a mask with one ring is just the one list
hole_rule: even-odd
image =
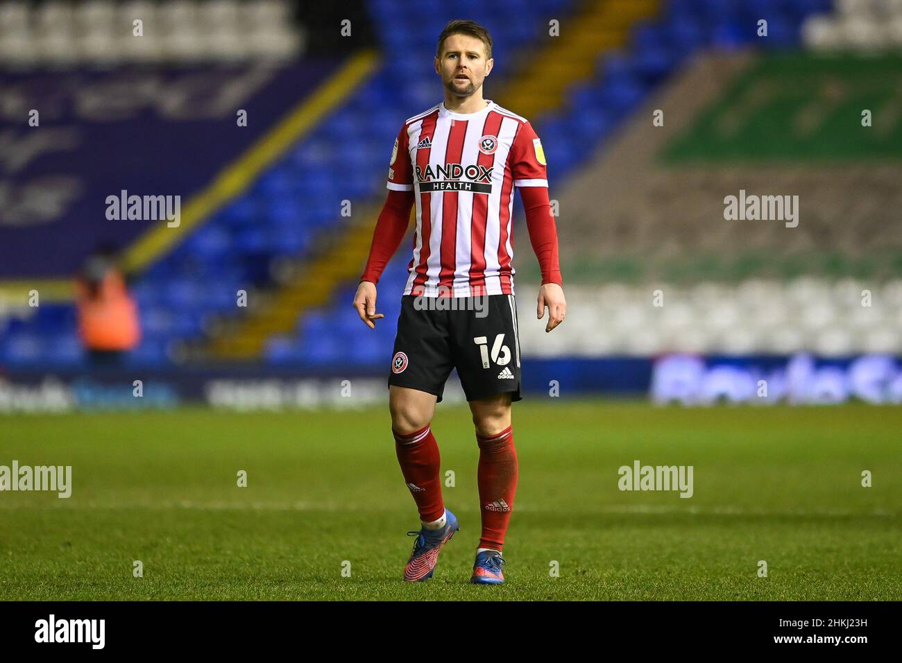
[[409,435],[394,433],[394,437],[400,471],[417,502],[419,520],[438,520],[445,515],[445,502],[442,502],[438,445],[432,429],[424,426]]

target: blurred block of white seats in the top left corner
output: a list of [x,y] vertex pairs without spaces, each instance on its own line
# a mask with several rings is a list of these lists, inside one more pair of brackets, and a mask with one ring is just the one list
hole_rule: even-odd
[[[0,3],[0,62],[11,69],[290,60],[305,35],[279,0]],[[135,39],[133,22],[147,36]],[[124,26],[132,29],[124,30]]]

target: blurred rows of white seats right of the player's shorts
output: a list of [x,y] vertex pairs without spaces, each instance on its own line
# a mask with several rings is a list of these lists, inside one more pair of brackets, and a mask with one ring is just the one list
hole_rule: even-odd
[[[526,355],[656,355],[686,352],[823,355],[902,352],[902,281],[867,284],[814,278],[745,281],[695,287],[608,283],[566,287],[567,317],[552,334],[520,300],[520,342]],[[664,306],[652,291],[664,290]],[[518,283],[518,290],[536,286]],[[546,314],[547,315],[547,314]]]

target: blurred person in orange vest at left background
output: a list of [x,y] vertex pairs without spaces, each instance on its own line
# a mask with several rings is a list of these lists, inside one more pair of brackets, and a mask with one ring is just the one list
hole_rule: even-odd
[[120,364],[125,353],[141,341],[138,307],[115,252],[100,246],[91,253],[75,282],[78,336],[95,366]]

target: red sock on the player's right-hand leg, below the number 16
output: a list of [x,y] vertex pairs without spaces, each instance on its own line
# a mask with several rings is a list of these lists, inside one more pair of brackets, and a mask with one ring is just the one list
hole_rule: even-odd
[[513,426],[498,435],[482,437],[479,444],[479,502],[482,505],[483,536],[479,548],[501,551],[504,532],[511,520],[513,493],[517,490],[517,452],[513,447]]

